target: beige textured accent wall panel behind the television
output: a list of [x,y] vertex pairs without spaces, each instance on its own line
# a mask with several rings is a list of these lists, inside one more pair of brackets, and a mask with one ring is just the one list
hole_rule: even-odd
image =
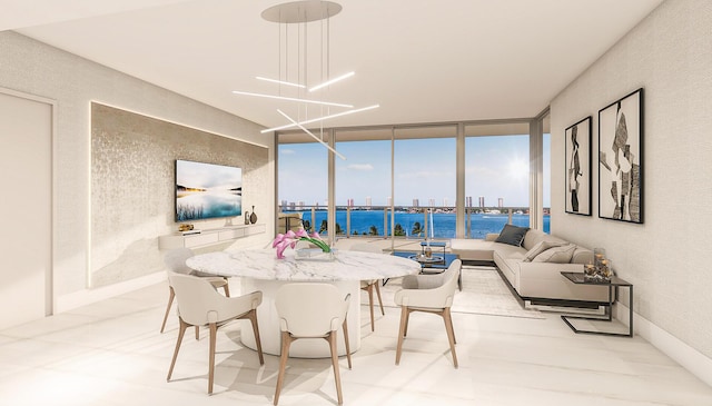
[[[244,210],[254,205],[266,218],[264,190],[271,185],[267,148],[91,103],[92,287],[164,269],[158,236],[177,227],[176,159],[243,168]],[[206,220],[196,227],[224,222]]]

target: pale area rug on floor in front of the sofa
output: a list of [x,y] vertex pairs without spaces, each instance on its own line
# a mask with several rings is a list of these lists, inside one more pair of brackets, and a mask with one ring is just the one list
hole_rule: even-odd
[[[545,318],[536,309],[522,308],[495,268],[464,265],[462,274],[463,290],[457,290],[455,294],[453,313]],[[393,301],[393,295],[398,289],[400,289],[400,278],[390,279],[386,286],[380,287],[384,306],[397,307]]]

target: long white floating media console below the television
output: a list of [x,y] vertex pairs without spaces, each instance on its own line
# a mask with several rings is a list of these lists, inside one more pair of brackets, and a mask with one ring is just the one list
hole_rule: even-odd
[[226,226],[206,230],[175,232],[158,237],[158,249],[199,248],[214,244],[227,242],[234,239],[263,234],[266,230],[264,224],[245,226]]

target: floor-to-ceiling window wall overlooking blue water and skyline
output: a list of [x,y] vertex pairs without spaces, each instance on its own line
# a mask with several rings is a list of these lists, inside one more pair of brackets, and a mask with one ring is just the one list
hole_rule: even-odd
[[333,160],[333,190],[332,152],[299,131],[280,133],[279,209],[332,237],[484,238],[506,222],[548,232],[546,117],[325,131],[346,158]]

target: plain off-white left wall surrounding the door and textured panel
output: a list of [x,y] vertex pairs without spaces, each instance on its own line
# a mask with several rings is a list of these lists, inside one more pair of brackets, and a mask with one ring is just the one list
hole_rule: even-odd
[[[55,303],[87,288],[89,271],[90,102],[98,101],[166,121],[240,139],[274,150],[254,122],[181,97],[12,31],[0,32],[0,87],[57,101],[55,138]],[[274,156],[269,158],[274,174]],[[274,179],[274,175],[271,176]],[[267,229],[274,188],[257,207]],[[260,219],[261,220],[261,219]],[[261,221],[260,221],[261,222]],[[97,295],[93,295],[95,297]],[[99,295],[101,296],[101,295]],[[100,297],[97,297],[100,298]],[[60,306],[61,307],[61,306]],[[61,308],[59,309],[61,310]]]

